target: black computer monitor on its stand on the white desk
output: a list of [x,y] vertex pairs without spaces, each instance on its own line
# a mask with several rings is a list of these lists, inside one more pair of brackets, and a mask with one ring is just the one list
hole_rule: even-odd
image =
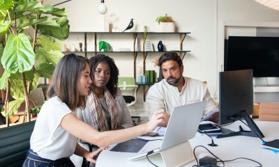
[[[239,119],[246,120],[251,131],[239,127],[239,132],[227,131],[217,138],[228,136],[264,137],[250,118],[254,106],[252,70],[235,70],[219,73],[219,124],[225,125]],[[256,133],[256,134],[255,134]]]

